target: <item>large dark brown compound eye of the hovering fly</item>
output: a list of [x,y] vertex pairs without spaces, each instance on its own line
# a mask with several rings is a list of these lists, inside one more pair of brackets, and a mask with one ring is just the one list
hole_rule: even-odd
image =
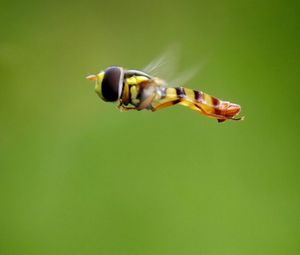
[[108,102],[115,102],[120,99],[123,88],[123,69],[111,66],[104,72],[101,92],[103,99]]

